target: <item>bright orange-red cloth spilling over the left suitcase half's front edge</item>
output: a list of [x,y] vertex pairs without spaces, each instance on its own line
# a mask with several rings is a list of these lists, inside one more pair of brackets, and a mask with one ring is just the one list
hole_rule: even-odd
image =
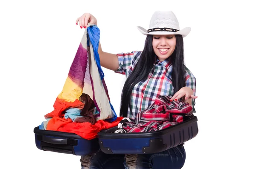
[[53,117],[47,124],[47,130],[76,133],[84,139],[91,140],[96,138],[101,130],[117,126],[122,119],[123,117],[117,117],[112,123],[98,120],[95,124],[91,124],[89,122],[76,123],[71,119]]

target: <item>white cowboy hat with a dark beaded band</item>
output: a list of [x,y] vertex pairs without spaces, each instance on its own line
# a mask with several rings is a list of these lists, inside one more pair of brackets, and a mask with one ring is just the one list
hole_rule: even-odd
[[141,26],[137,26],[142,34],[180,34],[186,37],[191,31],[190,27],[180,30],[177,17],[172,11],[155,11],[149,23],[149,29],[146,30]]

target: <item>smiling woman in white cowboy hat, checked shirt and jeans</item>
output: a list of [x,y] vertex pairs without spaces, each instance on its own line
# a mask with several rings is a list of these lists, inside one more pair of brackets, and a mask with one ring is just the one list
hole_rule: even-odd
[[[76,20],[76,25],[86,28],[88,23],[97,25],[96,18],[85,13]],[[140,26],[147,35],[142,52],[110,54],[103,52],[99,44],[101,66],[126,75],[120,116],[135,119],[138,112],[154,102],[157,95],[172,96],[195,105],[195,77],[184,65],[183,37],[190,32],[182,30],[172,11],[156,11],[149,29]],[[195,112],[195,109],[194,109]],[[81,157],[82,169],[181,169],[186,152],[183,145],[164,152],[143,155],[108,155],[101,151]]]

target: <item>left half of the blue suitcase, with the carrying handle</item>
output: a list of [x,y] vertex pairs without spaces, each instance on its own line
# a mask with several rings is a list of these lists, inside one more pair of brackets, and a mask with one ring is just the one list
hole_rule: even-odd
[[42,130],[34,128],[35,144],[44,151],[89,155],[99,151],[98,138],[86,140],[75,133]]

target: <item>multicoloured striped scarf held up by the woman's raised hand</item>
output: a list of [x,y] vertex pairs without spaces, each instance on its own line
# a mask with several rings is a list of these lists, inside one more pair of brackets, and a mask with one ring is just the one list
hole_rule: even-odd
[[66,112],[79,115],[84,108],[80,99],[82,93],[89,95],[93,100],[99,112],[95,116],[96,120],[116,120],[104,73],[99,64],[99,33],[99,28],[95,25],[89,24],[85,29],[64,87],[53,105],[54,110],[45,115],[48,121],[53,117],[64,118]]

